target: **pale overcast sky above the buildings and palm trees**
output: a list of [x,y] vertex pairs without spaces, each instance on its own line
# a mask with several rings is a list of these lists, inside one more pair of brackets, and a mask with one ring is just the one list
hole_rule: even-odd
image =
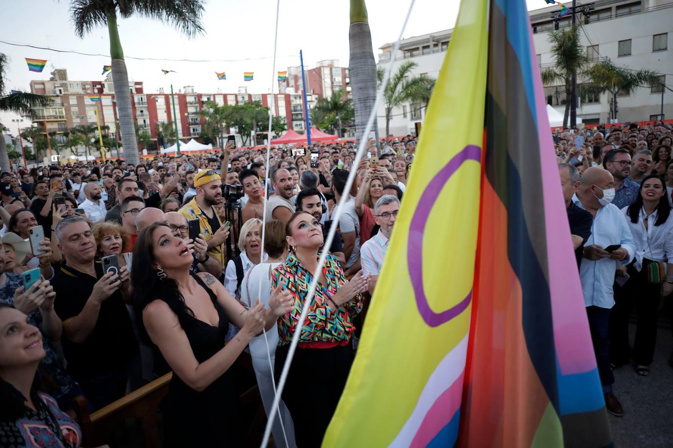
[[[67,0],[6,1],[0,40],[32,44],[62,50],[110,54],[107,28],[97,28],[83,39],[77,38],[70,22]],[[544,0],[526,0],[528,9],[545,6]],[[406,26],[404,38],[452,28],[458,15],[458,0],[417,0]],[[236,93],[248,87],[249,93],[267,93],[271,89],[273,63],[273,32],[275,26],[273,0],[210,0],[205,5],[205,34],[188,39],[166,24],[145,18],[119,20],[119,35],[127,57],[129,79],[143,81],[145,92],[159,87],[170,91],[193,85],[199,93]],[[398,5],[393,7],[392,5]],[[369,25],[378,60],[378,48],[396,40],[408,1],[367,0]],[[349,59],[349,2],[345,0],[310,1],[281,0],[279,36],[275,71],[299,65],[299,49],[304,51],[304,67],[315,67],[324,59],[339,59],[343,67]],[[30,90],[30,80],[49,79],[54,68],[65,68],[71,80],[100,80],[106,57],[59,53],[0,42],[0,52],[9,57],[5,75],[7,90]],[[42,73],[28,71],[24,58],[47,59]],[[231,62],[138,61],[128,57],[157,59],[222,59]],[[248,61],[240,61],[249,59]],[[238,61],[234,61],[238,60]],[[164,75],[161,69],[177,73]],[[219,81],[215,71],[227,73]],[[244,82],[243,72],[253,71],[254,81]],[[274,86],[277,91],[277,83]],[[13,114],[0,114],[5,126],[11,125]],[[11,126],[15,133],[15,126]]]

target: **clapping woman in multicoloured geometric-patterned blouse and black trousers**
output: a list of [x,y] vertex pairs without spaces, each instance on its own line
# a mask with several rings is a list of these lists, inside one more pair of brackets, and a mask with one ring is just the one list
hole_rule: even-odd
[[[318,266],[318,248],[323,243],[322,227],[309,213],[294,213],[285,230],[291,252],[273,271],[272,287],[283,285],[291,293],[294,306],[278,320],[277,378],[302,314],[311,273]],[[283,390],[283,401],[295,423],[298,447],[320,445],[332,419],[353,362],[350,344],[355,332],[353,320],[362,309],[361,293],[367,291],[367,283],[368,278],[361,271],[347,281],[336,257],[327,256],[306,321],[299,328],[298,350]],[[316,406],[306,406],[307,403]]]

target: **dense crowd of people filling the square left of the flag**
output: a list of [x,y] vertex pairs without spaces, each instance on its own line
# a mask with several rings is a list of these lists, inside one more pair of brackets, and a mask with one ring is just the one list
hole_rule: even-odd
[[[220,445],[223,431],[244,423],[237,361],[250,355],[271,414],[274,376],[298,330],[273,437],[279,446],[316,445],[357,349],[359,313],[415,145],[395,139],[378,156],[369,141],[358,166],[352,143],[275,147],[269,182],[266,150],[233,145],[135,166],[108,160],[1,173],[0,396],[11,406],[0,410],[0,440],[78,446],[73,398],[93,412],[172,372],[166,444]],[[345,191],[353,170],[357,182]],[[332,226],[336,238],[323,248]],[[327,262],[297,328],[323,250]],[[39,278],[26,289],[27,274]],[[324,374],[307,379],[316,363]],[[308,413],[306,399],[320,406]]]

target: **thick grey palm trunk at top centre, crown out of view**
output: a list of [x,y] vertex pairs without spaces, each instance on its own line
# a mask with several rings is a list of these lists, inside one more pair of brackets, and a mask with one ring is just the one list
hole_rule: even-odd
[[[371,46],[371,30],[367,22],[365,0],[351,0],[351,26],[349,29],[349,77],[353,88],[355,108],[355,137],[363,138],[369,114],[376,103],[376,61]],[[374,133],[378,147],[378,124],[374,120]],[[381,151],[380,147],[377,150]]]

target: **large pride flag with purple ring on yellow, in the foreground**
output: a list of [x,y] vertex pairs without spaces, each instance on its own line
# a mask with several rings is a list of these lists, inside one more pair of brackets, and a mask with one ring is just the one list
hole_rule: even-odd
[[460,5],[324,447],[612,444],[531,30]]

